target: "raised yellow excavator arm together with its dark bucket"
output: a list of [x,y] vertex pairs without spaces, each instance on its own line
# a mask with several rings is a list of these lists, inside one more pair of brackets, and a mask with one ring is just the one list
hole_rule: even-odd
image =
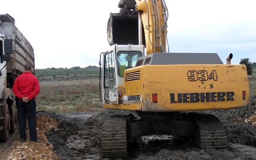
[[[136,4],[137,3],[137,4]],[[143,44],[147,54],[167,52],[168,9],[164,0],[120,0],[110,13],[107,39],[113,44]]]

